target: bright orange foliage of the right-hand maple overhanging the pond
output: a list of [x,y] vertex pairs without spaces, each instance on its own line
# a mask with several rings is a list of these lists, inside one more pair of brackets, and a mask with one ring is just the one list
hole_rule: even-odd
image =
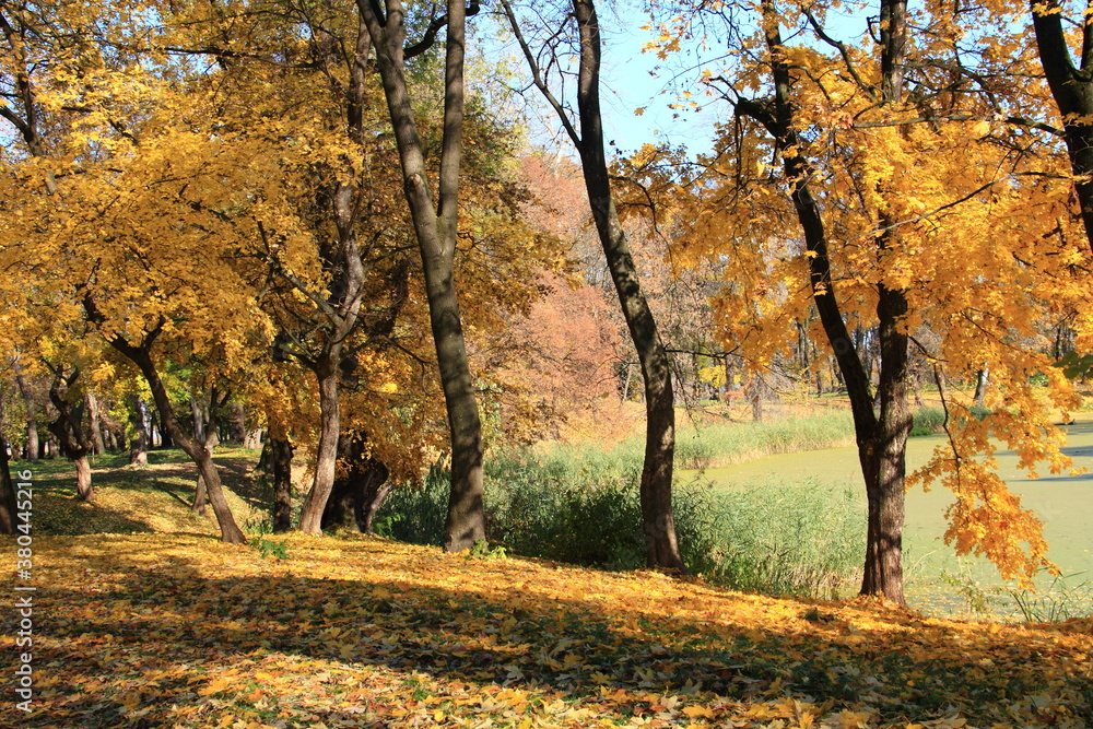
[[[781,164],[802,154],[849,327],[873,326],[879,286],[900,290],[909,308],[900,326],[939,381],[989,368],[991,414],[977,420],[967,398],[948,392],[950,440],[909,481],[953,491],[945,539],[959,553],[989,557],[1007,578],[1029,578],[1051,566],[1041,520],[1007,491],[991,455],[1000,440],[1031,472],[1036,463],[1053,472],[1069,467],[1053,419],[1078,399],[1053,366],[1044,332],[1063,316],[1072,317],[1080,345],[1093,331],[1089,251],[1037,61],[1027,44],[1006,45],[1009,28],[991,25],[983,9],[952,16],[930,4],[912,20],[929,28],[915,40],[918,86],[909,104],[886,107],[868,91],[880,80],[870,48],[833,38],[833,28],[846,26],[825,30],[820,9],[777,7],[790,30],[784,37],[794,38],[778,52],[791,69],[799,146],[777,149],[740,114],[748,99],[769,93],[769,51],[761,32],[727,24],[727,35],[734,27],[740,36],[722,39],[739,52],[730,64],[706,68],[700,87],[738,115],[719,128],[717,153],[701,160],[685,185],[653,180],[681,201],[678,255],[720,269],[726,283],[713,299],[715,316],[726,345],[741,346],[753,366],[789,356],[801,337],[821,338],[809,315],[814,254],[797,232],[787,195],[794,180]],[[734,21],[743,17],[742,9],[733,12]],[[661,43],[695,31],[692,17],[666,23]],[[860,15],[851,17],[865,27]],[[963,62],[979,75],[947,60],[957,38]]]

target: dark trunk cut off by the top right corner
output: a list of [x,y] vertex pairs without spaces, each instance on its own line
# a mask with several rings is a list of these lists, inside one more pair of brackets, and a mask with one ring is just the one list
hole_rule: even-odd
[[1058,0],[1030,0],[1036,47],[1051,96],[1062,117],[1074,193],[1089,245],[1093,248],[1093,16],[1085,14],[1079,64],[1067,43],[1065,9]]

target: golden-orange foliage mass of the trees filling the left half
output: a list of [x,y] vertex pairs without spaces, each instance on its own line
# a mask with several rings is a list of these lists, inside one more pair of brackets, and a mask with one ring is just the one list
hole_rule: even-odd
[[[139,340],[162,322],[158,363],[185,365],[201,381],[220,378],[308,445],[317,439],[315,388],[271,345],[306,356],[322,337],[322,306],[338,296],[325,192],[352,179],[365,324],[346,339],[345,430],[368,433],[392,475],[413,480],[423,459],[436,456],[443,413],[424,293],[403,252],[412,228],[391,169],[393,143],[371,109],[357,109],[365,141],[346,137],[339,90],[350,79],[336,42],[349,31],[337,8],[296,17],[321,28],[307,35],[292,21],[306,9],[233,7],[239,12],[165,5],[158,35],[144,28],[139,42],[115,38],[114,55],[90,33],[75,34],[82,46],[28,46],[32,108],[49,134],[37,156],[3,157],[0,204],[10,214],[0,221],[0,257],[11,273],[3,284],[10,316],[28,341],[37,320],[79,324],[89,298],[106,337]],[[117,21],[77,15],[107,30]],[[430,68],[423,61],[419,71]],[[0,72],[16,79],[19,69]],[[367,85],[379,93],[375,80]],[[439,130],[435,109],[424,106],[432,144]],[[536,271],[556,268],[561,257],[552,238],[519,219],[526,193],[505,163],[515,138],[477,102],[468,116],[471,184],[457,261],[467,326],[489,331],[505,311],[528,310],[541,293]],[[56,196],[44,179],[56,180]],[[51,317],[36,318],[32,299]]]

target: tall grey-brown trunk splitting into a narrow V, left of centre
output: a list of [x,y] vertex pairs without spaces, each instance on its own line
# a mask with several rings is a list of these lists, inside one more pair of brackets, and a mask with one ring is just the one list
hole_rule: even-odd
[[378,2],[368,0],[357,0],[356,4],[376,47],[376,66],[402,165],[403,191],[421,252],[430,325],[451,437],[451,486],[444,549],[458,552],[485,539],[482,425],[455,283],[467,9],[463,0],[447,1],[444,137],[440,143],[438,207],[434,209],[424,146],[418,133],[407,84],[403,50],[406,11],[400,0],[387,0],[386,10],[380,9]]

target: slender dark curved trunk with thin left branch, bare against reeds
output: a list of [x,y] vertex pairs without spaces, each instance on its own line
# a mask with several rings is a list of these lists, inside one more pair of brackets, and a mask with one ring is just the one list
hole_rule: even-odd
[[600,111],[601,42],[596,5],[592,0],[573,0],[573,11],[580,37],[576,127],[548,87],[534,55],[522,39],[512,7],[507,2],[503,2],[503,7],[514,33],[519,37],[536,85],[557,113],[580,154],[580,166],[588,202],[592,209],[592,220],[642,367],[645,383],[646,431],[645,462],[639,493],[646,564],[650,567],[685,573],[686,567],[680,556],[675,538],[675,519],[672,514],[675,401],[672,392],[671,363],[665,352],[653,311],[642,291],[640,278],[611,195]]

